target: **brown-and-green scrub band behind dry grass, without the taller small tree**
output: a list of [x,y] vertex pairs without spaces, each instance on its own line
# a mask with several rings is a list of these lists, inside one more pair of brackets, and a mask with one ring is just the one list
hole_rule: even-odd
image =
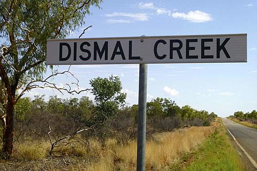
[[[214,113],[197,111],[190,106],[180,108],[173,101],[162,98],[148,102],[147,108],[146,134],[149,139],[159,132],[173,131],[181,127],[209,126],[216,117]],[[104,143],[114,138],[117,144],[128,144],[136,138],[137,105],[117,109],[113,116],[109,111],[102,111],[105,112],[104,116],[108,117],[103,117],[102,120],[100,116],[95,116],[99,115],[99,111],[88,97],[50,97],[48,102],[45,102],[44,96],[36,96],[33,100],[23,98],[15,109],[19,111],[15,113],[15,143],[29,144],[29,141],[42,142],[43,139],[49,144],[51,139],[53,144],[66,137],[56,144],[53,153],[59,153],[58,148],[61,146],[88,143],[88,139]],[[86,130],[74,134],[83,129]]]

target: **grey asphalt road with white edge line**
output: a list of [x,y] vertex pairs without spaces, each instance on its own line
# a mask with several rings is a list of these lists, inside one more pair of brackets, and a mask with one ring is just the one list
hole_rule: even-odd
[[240,125],[227,118],[223,119],[223,123],[235,137],[236,141],[257,162],[257,129]]

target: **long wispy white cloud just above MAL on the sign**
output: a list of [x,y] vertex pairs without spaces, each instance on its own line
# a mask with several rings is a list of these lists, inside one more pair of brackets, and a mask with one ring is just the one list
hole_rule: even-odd
[[105,14],[107,17],[129,17],[134,21],[148,21],[149,14],[147,13],[125,13],[125,12],[113,12],[111,14]]

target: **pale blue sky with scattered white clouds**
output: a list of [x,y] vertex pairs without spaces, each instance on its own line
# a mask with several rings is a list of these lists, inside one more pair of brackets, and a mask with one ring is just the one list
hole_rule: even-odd
[[[91,8],[86,25],[67,38],[78,38],[89,25],[83,37],[247,33],[247,63],[149,64],[148,100],[170,98],[221,117],[257,109],[257,1],[105,1],[100,6]],[[137,64],[71,66],[81,88],[90,88],[90,79],[119,75],[128,105],[138,101],[138,70]],[[62,86],[71,78],[54,81]],[[36,94],[72,97],[49,89],[26,96]],[[81,96],[94,99],[90,93],[74,97]]]

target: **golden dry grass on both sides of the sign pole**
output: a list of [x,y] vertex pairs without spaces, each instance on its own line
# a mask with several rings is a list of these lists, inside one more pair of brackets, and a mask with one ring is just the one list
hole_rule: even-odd
[[[216,125],[190,127],[154,135],[151,140],[146,142],[146,170],[168,170],[169,166],[181,162],[183,156],[202,144],[215,131],[216,127]],[[18,159],[45,161],[49,145],[48,141],[33,144],[26,142],[15,148],[13,156]],[[74,147],[60,146],[55,150],[60,151],[54,153],[57,156],[80,157],[73,161],[70,160],[68,165],[60,160],[59,163],[69,170],[135,170],[136,168],[137,143],[135,140],[122,145],[118,144],[115,139],[108,139],[104,144],[97,139],[90,139],[88,144],[78,143]],[[34,169],[60,169],[60,164],[50,162],[51,160],[47,159],[48,162],[44,166],[34,165]]]

